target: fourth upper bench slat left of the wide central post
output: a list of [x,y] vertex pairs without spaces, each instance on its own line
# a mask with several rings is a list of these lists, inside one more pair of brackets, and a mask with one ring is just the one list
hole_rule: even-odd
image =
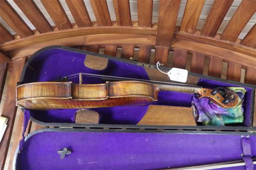
[[91,19],[83,0],[66,0],[66,3],[78,27],[92,26]]

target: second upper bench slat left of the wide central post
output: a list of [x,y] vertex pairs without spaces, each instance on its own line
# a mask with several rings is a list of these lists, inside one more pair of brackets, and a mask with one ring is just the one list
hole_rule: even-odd
[[131,26],[131,12],[129,0],[113,0],[117,25]]

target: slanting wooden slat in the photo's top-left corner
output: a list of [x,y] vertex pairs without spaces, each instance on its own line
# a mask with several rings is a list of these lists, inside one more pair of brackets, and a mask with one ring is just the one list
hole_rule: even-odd
[[15,31],[20,37],[34,35],[33,31],[21,19],[20,15],[13,9],[7,0],[1,0],[0,17]]

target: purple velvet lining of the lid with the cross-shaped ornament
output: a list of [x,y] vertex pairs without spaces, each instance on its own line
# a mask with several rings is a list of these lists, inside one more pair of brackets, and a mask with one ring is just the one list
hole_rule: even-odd
[[[249,140],[252,156],[256,157],[256,136],[250,136]],[[72,153],[61,160],[57,151],[65,147]],[[41,132],[27,139],[16,167],[22,170],[149,170],[242,160],[241,153],[240,135]]]

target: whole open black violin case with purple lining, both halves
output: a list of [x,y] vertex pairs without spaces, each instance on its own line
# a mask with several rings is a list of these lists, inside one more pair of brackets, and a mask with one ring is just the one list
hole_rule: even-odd
[[[87,57],[96,66],[104,65],[105,61],[106,67],[90,68],[86,64]],[[165,72],[169,70],[165,67],[160,69]],[[155,81],[163,77],[155,65],[63,46],[50,46],[28,59],[18,85],[56,81],[77,73]],[[99,83],[98,78],[83,77],[82,81],[84,84]],[[78,83],[79,79],[74,77],[72,82]],[[170,81],[166,79],[166,82]],[[186,83],[203,88],[246,88],[243,123],[232,126],[136,125],[148,106],[135,106],[97,108],[99,124],[76,124],[74,116],[79,109],[22,108],[25,116],[24,132],[29,119],[47,128],[34,131],[20,141],[13,169],[159,170],[244,160],[246,166],[221,170],[256,170],[251,159],[256,157],[256,127],[253,127],[252,121],[256,87],[194,73],[189,73]],[[181,92],[159,92],[157,104],[191,107],[191,97],[192,94]]]

